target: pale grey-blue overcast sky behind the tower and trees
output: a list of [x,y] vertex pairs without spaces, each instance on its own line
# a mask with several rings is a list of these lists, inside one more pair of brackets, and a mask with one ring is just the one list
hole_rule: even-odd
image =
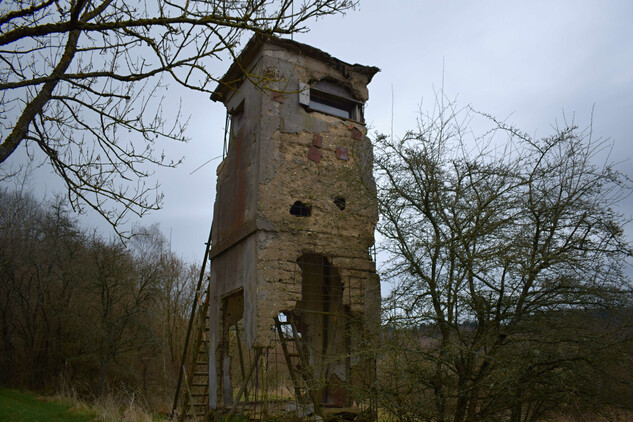
[[[420,104],[432,106],[433,88],[444,75],[445,91],[460,104],[536,136],[550,134],[563,112],[585,126],[594,109],[594,133],[614,140],[620,169],[633,176],[632,21],[630,0],[361,0],[358,10],[313,22],[309,33],[294,39],[381,69],[369,85],[370,133],[389,133],[392,93],[394,135],[414,128]],[[230,61],[214,65],[221,75]],[[225,110],[192,93],[184,93],[183,105],[191,114],[191,141],[168,152],[184,156],[184,163],[158,174],[164,208],[141,223],[160,223],[173,249],[199,262],[211,224],[219,164],[212,159],[222,153]],[[35,183],[42,189],[50,182]],[[633,214],[632,201],[623,212]]]

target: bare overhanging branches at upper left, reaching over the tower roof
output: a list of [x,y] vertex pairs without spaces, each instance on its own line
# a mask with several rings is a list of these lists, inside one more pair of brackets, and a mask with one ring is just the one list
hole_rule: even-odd
[[[163,116],[170,83],[210,92],[245,33],[285,35],[356,0],[8,0],[0,6],[0,163],[40,150],[75,209],[116,229],[161,203],[145,180],[173,166],[156,147],[185,140]],[[251,75],[251,77],[256,77]],[[165,88],[166,89],[166,88]]]

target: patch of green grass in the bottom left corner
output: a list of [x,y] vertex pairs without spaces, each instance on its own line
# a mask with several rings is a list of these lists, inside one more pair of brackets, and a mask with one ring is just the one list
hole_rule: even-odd
[[75,411],[60,402],[15,390],[0,389],[2,422],[90,422],[94,418],[92,413]]

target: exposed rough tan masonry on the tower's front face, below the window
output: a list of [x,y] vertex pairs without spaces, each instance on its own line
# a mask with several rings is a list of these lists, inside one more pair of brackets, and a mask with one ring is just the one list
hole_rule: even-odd
[[[270,339],[269,320],[280,310],[293,309],[301,300],[301,277],[296,262],[306,252],[328,257],[340,271],[344,283],[343,301],[353,313],[375,314],[376,298],[364,291],[371,288],[375,267],[369,255],[376,223],[371,190],[360,183],[358,158],[355,152],[367,138],[352,138],[354,131],[340,119],[330,120],[318,133],[276,132],[279,158],[272,161],[275,176],[259,185],[258,215],[270,230],[258,236],[258,321],[260,345]],[[356,126],[352,126],[356,129]],[[318,141],[316,141],[319,139]],[[310,159],[318,148],[319,159]],[[336,151],[345,148],[347,160],[337,158]],[[349,152],[351,151],[351,152]],[[345,199],[345,209],[335,204]],[[297,217],[289,210],[295,201],[311,207],[310,217]],[[264,305],[264,303],[266,305]],[[368,306],[370,309],[365,309]],[[372,309],[373,308],[373,309]]]

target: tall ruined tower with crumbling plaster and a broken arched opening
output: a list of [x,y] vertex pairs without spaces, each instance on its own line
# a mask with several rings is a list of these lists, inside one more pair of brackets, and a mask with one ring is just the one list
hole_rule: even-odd
[[255,36],[211,97],[230,129],[210,251],[210,409],[371,414],[380,284],[363,105],[377,71]]

